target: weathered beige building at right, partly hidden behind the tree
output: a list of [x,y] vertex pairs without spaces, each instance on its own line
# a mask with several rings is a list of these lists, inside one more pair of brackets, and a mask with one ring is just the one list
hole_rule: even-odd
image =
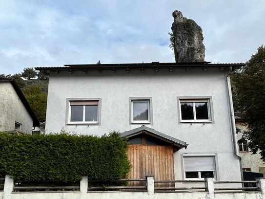
[[243,137],[244,132],[247,130],[247,126],[244,122],[244,115],[240,112],[235,112],[235,120],[236,127],[239,129],[239,131],[237,131],[237,141],[239,155],[242,158],[242,170],[263,173],[265,177],[265,164],[261,159],[261,155],[259,152],[257,154],[252,154],[247,146],[247,140]]

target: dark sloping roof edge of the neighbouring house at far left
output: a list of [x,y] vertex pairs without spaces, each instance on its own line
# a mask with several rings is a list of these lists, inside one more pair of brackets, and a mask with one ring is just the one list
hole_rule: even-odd
[[39,127],[40,122],[37,119],[35,113],[32,111],[31,107],[29,106],[24,94],[22,93],[19,85],[17,84],[16,80],[14,78],[0,78],[0,82],[10,82],[15,91],[17,92],[18,96],[20,97],[21,102],[23,103],[24,107],[30,114],[32,120],[33,120],[33,127]]

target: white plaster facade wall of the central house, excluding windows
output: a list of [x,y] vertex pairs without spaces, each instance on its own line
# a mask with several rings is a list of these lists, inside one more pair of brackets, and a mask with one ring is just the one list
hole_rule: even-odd
[[[153,124],[144,124],[159,132],[187,142],[187,150],[174,154],[176,179],[183,179],[183,153],[216,155],[221,180],[240,180],[239,159],[233,154],[229,123],[227,71],[168,69],[112,71],[73,71],[51,73],[49,79],[46,132],[66,131],[102,135],[110,130],[128,131],[142,126],[129,122],[129,98],[152,97]],[[177,97],[211,96],[214,122],[180,123]],[[100,125],[67,125],[66,98],[101,98]]]

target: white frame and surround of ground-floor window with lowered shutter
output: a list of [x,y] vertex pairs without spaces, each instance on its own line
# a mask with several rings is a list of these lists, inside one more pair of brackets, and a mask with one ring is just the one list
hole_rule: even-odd
[[[209,170],[209,169],[205,169],[205,170],[188,170],[186,171],[185,170],[185,158],[187,157],[196,157],[196,158],[204,158],[204,157],[212,157],[213,158],[213,170]],[[217,171],[217,157],[215,154],[183,154],[183,179],[187,179],[187,180],[194,180],[194,179],[204,179],[202,176],[201,176],[201,172],[207,172],[207,171],[210,171],[210,172],[213,172],[213,178],[214,180],[217,180],[217,174],[218,174],[218,171]],[[186,172],[198,172],[198,177],[186,177]]]

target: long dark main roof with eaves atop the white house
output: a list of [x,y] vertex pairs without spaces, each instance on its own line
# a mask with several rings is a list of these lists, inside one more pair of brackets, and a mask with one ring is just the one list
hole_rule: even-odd
[[59,72],[60,70],[66,70],[70,73],[72,71],[81,70],[83,72],[87,72],[89,70],[112,70],[115,72],[116,69],[124,69],[129,71],[130,69],[155,69],[158,71],[159,69],[169,69],[172,71],[174,68],[186,68],[189,70],[190,68],[202,68],[207,69],[210,67],[219,67],[223,70],[225,67],[232,67],[232,70],[238,69],[241,66],[245,66],[245,64],[211,64],[210,62],[191,62],[191,63],[136,63],[136,64],[78,64],[78,65],[64,65],[59,67],[35,67],[36,70],[40,70],[43,74],[48,75],[51,71]]

